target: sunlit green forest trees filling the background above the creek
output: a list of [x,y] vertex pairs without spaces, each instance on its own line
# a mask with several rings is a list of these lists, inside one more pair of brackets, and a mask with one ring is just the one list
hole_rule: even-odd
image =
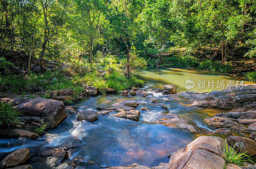
[[225,65],[255,57],[255,17],[254,0],[1,0],[0,49],[76,64],[147,61],[154,49],[163,64],[166,51],[182,48],[185,60]]

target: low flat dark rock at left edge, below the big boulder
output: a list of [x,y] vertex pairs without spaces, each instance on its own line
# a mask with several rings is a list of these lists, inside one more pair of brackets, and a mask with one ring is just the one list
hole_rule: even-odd
[[2,137],[26,137],[30,139],[36,139],[39,137],[38,134],[21,129],[1,129],[1,136]]

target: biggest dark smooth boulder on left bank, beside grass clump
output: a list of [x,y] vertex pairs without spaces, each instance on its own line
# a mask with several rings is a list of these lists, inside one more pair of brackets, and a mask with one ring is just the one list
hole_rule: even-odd
[[25,116],[43,118],[49,128],[57,127],[67,117],[64,104],[53,99],[22,97],[0,98],[0,101],[11,103]]

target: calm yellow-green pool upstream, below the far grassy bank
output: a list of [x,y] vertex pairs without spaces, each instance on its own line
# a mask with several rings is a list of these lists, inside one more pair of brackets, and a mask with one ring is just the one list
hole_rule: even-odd
[[[210,82],[209,88],[211,88],[211,90],[222,90],[224,88],[218,88],[217,86],[218,81],[224,81],[224,87],[226,88],[230,80],[233,81],[234,84],[236,84],[236,81],[239,81],[238,84],[240,84],[240,81],[243,80],[240,77],[235,77],[228,74],[217,74],[195,68],[181,69],[148,67],[147,70],[139,70],[136,73],[136,76],[146,81],[146,86],[148,86],[149,88],[162,88],[164,84],[175,84],[178,92],[187,91],[187,89],[185,88],[186,80],[191,80],[195,83],[194,88],[189,89],[189,91],[197,92],[204,92],[208,88],[208,81]],[[205,82],[205,87],[200,85],[200,88],[197,88],[198,84],[203,83],[201,83],[200,81]],[[211,84],[212,81],[214,84]],[[244,81],[243,83],[252,84],[253,82]]]

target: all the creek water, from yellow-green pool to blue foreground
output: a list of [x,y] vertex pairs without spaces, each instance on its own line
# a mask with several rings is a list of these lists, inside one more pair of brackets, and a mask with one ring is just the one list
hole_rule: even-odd
[[[176,84],[177,92],[186,90],[185,81],[187,79],[195,83],[195,87],[190,90],[199,92],[203,92],[205,89],[197,88],[197,81],[241,80],[197,69],[156,69],[153,67],[140,70],[136,76],[145,81],[144,88],[162,88],[164,84]],[[246,83],[250,82],[245,81],[244,84]],[[78,163],[77,168],[99,168],[98,165],[89,165],[88,163],[96,163],[100,166],[130,166],[132,163],[138,163],[152,167],[159,165],[160,162],[168,162],[169,153],[185,147],[196,137],[214,131],[204,123],[204,118],[224,112],[224,110],[192,107],[185,99],[164,102],[168,110],[163,110],[160,107],[148,105],[149,99],[153,96],[163,98],[160,93],[148,93],[153,96],[143,99],[139,96],[123,97],[121,94],[117,92],[85,98],[73,106],[79,107],[78,110],[96,111],[96,107],[111,107],[111,104],[122,100],[137,100],[140,105],[136,109],[140,110],[143,106],[150,109],[149,111],[140,111],[139,122],[110,116],[115,112],[99,115],[99,119],[93,123],[77,121],[76,114],[69,114],[57,128],[48,131],[47,134],[36,140],[1,138],[0,153],[29,148],[33,154],[39,149],[73,147],[68,150],[69,159],[78,158],[78,161],[82,161]],[[191,134],[187,131],[175,130],[162,124],[153,123],[155,120],[164,118],[169,112],[187,119],[200,131],[199,134]],[[33,168],[43,169],[52,167],[53,163],[36,161],[32,158],[31,164]]]

